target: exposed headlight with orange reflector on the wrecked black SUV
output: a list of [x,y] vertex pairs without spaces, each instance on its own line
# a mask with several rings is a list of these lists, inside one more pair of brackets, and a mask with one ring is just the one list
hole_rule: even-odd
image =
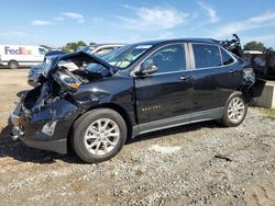
[[77,90],[81,84],[81,82],[78,79],[63,71],[57,71],[55,79],[56,81],[61,82],[62,84],[66,85],[72,90]]

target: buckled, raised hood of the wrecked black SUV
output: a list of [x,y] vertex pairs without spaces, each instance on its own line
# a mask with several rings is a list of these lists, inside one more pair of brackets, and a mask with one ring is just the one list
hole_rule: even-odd
[[70,60],[72,62],[74,62],[79,67],[88,64],[99,64],[107,69],[108,75],[112,75],[113,71],[117,70],[114,66],[108,64],[107,61],[100,59],[99,57],[80,50],[77,53],[46,57],[43,64],[42,75],[45,78],[47,78],[51,73],[54,73],[56,70],[58,70],[59,61],[66,61],[66,60]]

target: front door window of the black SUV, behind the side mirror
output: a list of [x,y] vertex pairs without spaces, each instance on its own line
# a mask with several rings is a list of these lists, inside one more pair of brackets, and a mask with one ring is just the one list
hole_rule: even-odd
[[184,44],[163,47],[148,57],[143,64],[145,67],[156,65],[158,70],[155,73],[185,70],[186,59]]

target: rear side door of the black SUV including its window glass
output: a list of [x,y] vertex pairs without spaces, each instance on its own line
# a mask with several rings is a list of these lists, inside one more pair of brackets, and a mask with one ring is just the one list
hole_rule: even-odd
[[194,113],[222,112],[230,94],[241,85],[241,66],[218,45],[190,44],[194,54]]

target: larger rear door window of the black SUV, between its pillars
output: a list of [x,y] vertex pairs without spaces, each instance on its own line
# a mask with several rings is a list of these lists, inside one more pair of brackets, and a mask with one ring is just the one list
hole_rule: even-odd
[[193,45],[196,68],[219,67],[221,64],[220,49],[213,45]]

